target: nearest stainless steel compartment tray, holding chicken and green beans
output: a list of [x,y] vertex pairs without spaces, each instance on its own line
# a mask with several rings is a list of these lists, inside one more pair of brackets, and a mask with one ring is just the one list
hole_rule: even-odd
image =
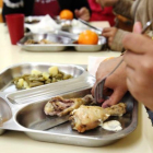
[[[73,79],[20,91],[11,83],[14,76],[30,73],[33,69],[46,71],[51,66],[57,66],[60,71],[73,75]],[[7,68],[0,73],[0,134],[4,130],[15,130],[23,131],[37,141],[103,146],[131,133],[137,128],[138,103],[128,93],[121,102],[127,105],[132,104],[133,107],[122,117],[114,117],[122,127],[118,132],[106,131],[98,127],[85,133],[78,133],[72,130],[67,116],[59,118],[45,115],[44,106],[48,99],[57,95],[67,98],[83,97],[91,93],[94,82],[95,79],[83,67],[74,64],[20,63]],[[59,120],[60,125],[54,128],[47,130],[36,128]]]

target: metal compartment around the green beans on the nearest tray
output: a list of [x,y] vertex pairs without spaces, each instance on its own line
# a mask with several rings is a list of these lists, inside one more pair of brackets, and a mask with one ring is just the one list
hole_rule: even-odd
[[[56,64],[56,63],[19,63],[12,66],[0,73],[0,91],[16,92],[19,91],[12,83],[13,78],[22,74],[31,73],[32,70],[37,69],[42,72],[47,72],[49,67],[57,66],[60,71],[78,78],[85,71],[84,68],[74,64]],[[71,79],[73,80],[73,79]],[[63,82],[67,82],[63,81]],[[43,85],[44,86],[44,85]],[[33,87],[35,89],[35,87]]]

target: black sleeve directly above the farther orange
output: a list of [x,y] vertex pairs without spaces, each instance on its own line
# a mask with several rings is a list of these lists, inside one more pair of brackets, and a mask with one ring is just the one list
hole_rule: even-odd
[[60,9],[68,9],[74,12],[75,9],[81,9],[83,7],[87,8],[91,12],[87,0],[59,0]]

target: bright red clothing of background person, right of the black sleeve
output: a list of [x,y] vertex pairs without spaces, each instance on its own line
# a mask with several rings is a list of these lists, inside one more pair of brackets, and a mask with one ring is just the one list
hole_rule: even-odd
[[115,25],[115,15],[113,13],[113,8],[102,8],[96,0],[89,0],[89,4],[92,10],[90,21],[108,21],[110,26]]

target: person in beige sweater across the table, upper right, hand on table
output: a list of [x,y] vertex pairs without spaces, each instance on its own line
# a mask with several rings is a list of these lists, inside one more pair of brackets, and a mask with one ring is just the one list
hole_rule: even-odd
[[[140,21],[142,26],[153,19],[153,0],[96,0],[103,8],[113,7],[116,14],[120,14],[133,22]],[[142,13],[143,12],[143,13]],[[153,30],[153,25],[150,32]],[[129,32],[116,27],[107,27],[103,31],[103,36],[108,38],[111,50],[122,50],[122,38]],[[151,34],[151,33],[150,33]],[[150,35],[149,34],[149,35]]]

